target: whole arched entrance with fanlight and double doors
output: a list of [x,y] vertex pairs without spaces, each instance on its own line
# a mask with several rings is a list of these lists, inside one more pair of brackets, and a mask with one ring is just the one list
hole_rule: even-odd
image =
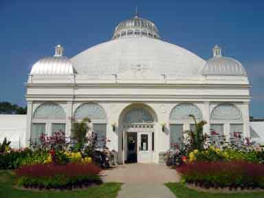
[[119,139],[122,163],[152,163],[155,153],[156,115],[146,104],[131,104],[120,115]]

